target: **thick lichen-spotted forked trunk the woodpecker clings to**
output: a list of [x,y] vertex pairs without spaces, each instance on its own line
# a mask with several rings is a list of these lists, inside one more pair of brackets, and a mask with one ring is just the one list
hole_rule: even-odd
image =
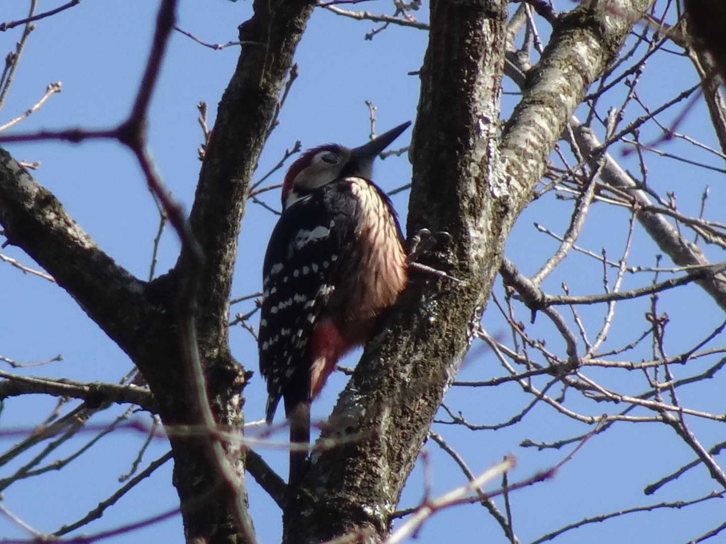
[[303,490],[285,510],[285,543],[386,535],[468,350],[506,236],[574,107],[650,1],[622,4],[615,12],[582,6],[561,18],[497,142],[507,2],[431,2],[407,230],[448,232],[450,243],[425,262],[465,284],[417,276],[383,320],[322,432],[340,445],[314,453]]

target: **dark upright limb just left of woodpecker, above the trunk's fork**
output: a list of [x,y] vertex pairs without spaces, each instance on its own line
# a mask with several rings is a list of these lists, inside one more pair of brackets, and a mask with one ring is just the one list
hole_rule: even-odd
[[[240,59],[205,152],[189,224],[205,255],[197,313],[202,342],[227,339],[229,289],[245,201],[293,52],[314,1],[258,0],[240,25]],[[185,253],[185,252],[184,252]],[[184,254],[179,263],[184,262]],[[177,268],[179,267],[177,264]]]

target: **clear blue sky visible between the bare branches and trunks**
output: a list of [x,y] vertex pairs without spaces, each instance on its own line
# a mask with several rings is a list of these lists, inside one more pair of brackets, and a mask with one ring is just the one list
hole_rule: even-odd
[[[26,2],[15,0],[9,4],[0,18],[15,20],[25,17],[28,9]],[[560,9],[571,5],[563,1],[557,4]],[[54,5],[41,1],[38,9],[52,7]],[[76,125],[106,128],[118,123],[129,111],[144,68],[156,8],[156,2],[139,0],[87,0],[60,15],[39,21],[23,53],[9,98],[0,111],[0,121],[15,117],[34,104],[42,96],[47,83],[62,81],[62,93],[52,96],[40,111],[23,121],[18,130]],[[249,17],[250,9],[251,2],[245,1],[188,0],[181,4],[178,25],[205,41],[224,43],[237,38],[237,25]],[[385,2],[370,2],[366,4],[366,9],[385,12],[389,5]],[[426,20],[427,6],[417,15]],[[364,34],[374,26],[377,25],[372,22],[353,22],[322,10],[315,12],[295,56],[299,67],[298,80],[290,91],[280,118],[281,124],[275,129],[261,157],[256,178],[272,168],[285,149],[293,147],[298,139],[303,148],[328,141],[349,146],[364,143],[369,131],[365,100],[372,101],[378,107],[376,127],[379,133],[405,120],[415,119],[418,78],[407,73],[420,67],[428,36],[421,30],[390,28],[372,41],[365,41]],[[11,50],[19,37],[20,28],[0,36],[3,51]],[[209,104],[211,125],[216,103],[236,61],[237,49],[234,47],[213,51],[179,33],[171,40],[152,102],[149,137],[153,157],[166,186],[187,209],[192,203],[200,166],[196,150],[202,141],[202,133],[197,125],[196,104],[200,100]],[[638,87],[646,103],[660,104],[691,84],[688,82],[693,80],[693,70],[684,59],[661,55],[654,57],[652,62],[660,64],[647,72],[647,78]],[[514,90],[509,81],[505,81],[504,88],[507,91]],[[508,115],[508,109],[516,100],[516,96],[505,96],[502,117]],[[621,97],[614,94],[611,100],[613,105],[618,105]],[[635,110],[635,105],[631,104],[631,108]],[[640,113],[633,112],[632,115]],[[665,116],[664,122],[671,122],[675,115],[674,112]],[[680,130],[717,147],[707,119],[703,102],[698,102],[688,113]],[[601,128],[597,127],[597,130],[602,136]],[[658,136],[654,131],[648,132],[650,130],[644,128],[643,140]],[[646,137],[648,134],[652,137]],[[407,144],[409,137],[410,131],[407,131],[396,141],[396,145]],[[684,146],[682,142],[673,142],[663,144],[661,148],[667,152],[688,154],[696,160],[723,168],[723,161],[717,160],[712,154]],[[118,263],[139,278],[147,277],[158,213],[130,152],[111,141],[93,141],[81,145],[13,144],[8,145],[7,149],[18,160],[40,161],[41,167],[33,173],[38,182],[53,191],[76,221]],[[617,157],[619,149],[613,149]],[[638,173],[639,167],[635,160],[636,157],[628,157],[623,159],[623,164],[633,173]],[[722,217],[722,213],[717,211],[723,210],[726,205],[722,173],[695,169],[667,158],[652,160],[649,168],[650,183],[662,194],[666,190],[677,191],[678,206],[684,213],[698,215],[701,193],[706,185],[710,185],[711,196],[706,215],[716,221],[719,216]],[[281,181],[283,172],[280,170],[274,174],[271,181]],[[375,172],[375,180],[384,189],[393,189],[410,179],[410,165],[405,155],[379,162]],[[441,182],[444,184],[446,181]],[[266,202],[279,208],[278,199],[277,191],[265,197]],[[396,195],[393,202],[405,224],[407,194]],[[534,202],[521,215],[514,228],[507,243],[507,257],[523,273],[534,273],[557,243],[537,234],[532,223],[537,221],[561,234],[568,225],[570,215],[571,202],[563,203],[552,197]],[[628,217],[629,213],[624,210],[613,210],[603,204],[594,205],[578,243],[595,252],[605,247],[608,255],[617,259],[622,251],[624,233],[627,232]],[[274,218],[268,211],[260,206],[248,205],[240,235],[240,260],[232,289],[234,297],[258,289],[262,255],[273,224]],[[639,228],[635,231],[634,244],[635,257],[630,264],[653,265],[653,255],[658,250]],[[157,273],[165,272],[174,264],[178,251],[179,242],[173,232],[167,229],[160,244]],[[2,252],[26,265],[34,265],[30,257],[15,247],[7,247]],[[713,247],[706,247],[706,253],[714,262],[724,258],[723,251]],[[563,263],[558,273],[544,282],[543,287],[549,292],[558,293],[560,282],[565,280],[574,294],[585,294],[600,287],[597,281],[593,281],[599,275],[600,265],[594,260],[573,255]],[[648,281],[650,276],[627,276],[624,289],[647,284]],[[497,292],[501,297],[500,287],[497,287]],[[672,327],[668,337],[669,355],[694,345],[704,336],[703,331],[714,329],[723,319],[723,314],[715,310],[710,300],[696,287],[664,293],[660,304],[661,311],[669,313],[672,320],[669,324]],[[245,302],[234,306],[232,312],[244,313],[250,308],[251,303]],[[126,355],[85,316],[68,294],[54,284],[36,276],[23,275],[3,263],[0,263],[0,310],[0,355],[20,362],[44,360],[57,354],[63,356],[60,362],[18,372],[115,382],[131,368]],[[635,339],[638,332],[645,328],[643,313],[647,310],[648,302],[645,300],[619,305],[618,318],[608,335],[608,345],[614,347]],[[602,307],[582,308],[581,311],[588,326],[600,323],[603,319]],[[564,308],[562,313],[566,313]],[[529,321],[529,315],[521,308],[518,318]],[[507,335],[507,327],[497,318],[496,308],[492,304],[483,323],[491,334],[501,337]],[[256,324],[256,318],[253,324]],[[547,337],[552,342],[552,349],[557,349],[558,339],[542,316],[530,330],[535,336]],[[230,342],[237,360],[245,368],[257,371],[256,345],[250,334],[244,329],[232,329]],[[638,356],[647,358],[647,351]],[[354,354],[346,360],[346,364],[352,365],[355,360]],[[502,371],[492,354],[479,347],[470,354],[460,379],[487,379],[500,374]],[[687,374],[684,371],[682,376]],[[620,379],[632,379],[632,376],[612,371],[592,371],[589,375],[613,388],[621,385]],[[314,405],[314,416],[323,418],[329,413],[344,383],[344,376],[338,374],[332,377],[320,400]],[[633,395],[644,389],[642,381],[629,382],[627,385],[628,392]],[[720,401],[722,390],[722,385],[719,387],[717,383],[710,390],[702,386],[693,391],[684,389],[680,392],[681,400],[684,405],[720,412],[723,411]],[[258,374],[245,390],[245,395],[246,418],[248,421],[261,419],[264,413],[264,384]],[[454,387],[446,397],[446,404],[454,411],[463,411],[471,421],[493,424],[506,421],[529,400],[514,385],[478,392]],[[4,405],[0,426],[3,429],[32,427],[53,406],[54,400],[48,397],[13,398]],[[592,405],[583,404],[582,409],[597,415],[597,411],[592,412]],[[112,421],[121,411],[123,408],[112,408],[97,416],[94,423]],[[603,406],[603,411],[613,411],[613,408]],[[440,416],[444,418],[443,414]],[[702,438],[704,445],[709,446],[720,440],[712,424],[698,420],[692,423],[694,432]],[[533,448],[521,448],[519,444],[522,440],[558,440],[587,432],[588,427],[563,419],[544,405],[538,405],[522,425],[506,427],[496,433],[475,433],[441,424],[434,425],[434,430],[443,434],[462,453],[475,473],[499,461],[504,455],[515,455],[518,465],[510,475],[511,482],[526,479],[552,466],[569,451],[566,447],[536,452]],[[68,455],[93,436],[92,433],[82,434],[72,444],[60,448],[59,453],[49,460],[62,457],[64,453]],[[89,453],[60,473],[50,472],[4,490],[3,505],[36,529],[52,532],[61,524],[85,515],[119,487],[118,476],[129,471],[143,440],[142,434],[133,431],[104,437]],[[0,449],[4,451],[11,444],[8,440],[2,440]],[[443,493],[464,482],[460,470],[436,445],[429,442],[425,448],[431,454],[433,493]],[[163,440],[153,442],[144,457],[144,463],[158,458],[166,450],[167,445]],[[38,451],[36,448],[31,453]],[[263,453],[276,469],[284,473],[286,453]],[[585,516],[637,504],[705,495],[715,487],[715,483],[707,478],[702,467],[691,471],[693,474],[666,487],[663,493],[655,497],[645,497],[642,493],[645,484],[668,474],[692,458],[693,453],[665,426],[616,426],[607,434],[592,438],[555,479],[513,495],[515,532],[523,542],[528,542]],[[2,467],[0,477],[12,474],[28,459],[26,456]],[[401,500],[402,507],[413,506],[420,500],[423,493],[420,467],[415,469],[409,482]],[[279,540],[279,510],[251,478],[248,479],[248,487],[250,509],[261,542]],[[174,508],[176,504],[176,494],[171,486],[171,464],[168,463],[118,505],[109,508],[102,519],[86,527],[84,532],[118,527]],[[685,542],[717,525],[719,519],[722,519],[722,506],[711,501],[684,511],[664,510],[623,516],[569,532],[555,542]],[[419,541],[451,541],[452,527],[456,527],[457,535],[460,535],[457,536],[457,542],[480,542],[482,535],[492,535],[489,540],[492,542],[504,542],[501,530],[486,511],[478,506],[460,506],[437,514],[420,532]],[[0,517],[0,537],[24,535]],[[181,540],[181,518],[176,517],[142,532],[116,537],[112,541],[151,543]]]

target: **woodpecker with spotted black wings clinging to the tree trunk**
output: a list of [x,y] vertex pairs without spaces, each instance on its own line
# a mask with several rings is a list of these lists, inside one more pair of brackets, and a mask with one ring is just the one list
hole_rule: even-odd
[[[401,227],[370,177],[375,157],[410,124],[354,149],[309,149],[285,175],[264,258],[258,349],[267,423],[282,397],[293,444],[310,441],[310,403],[335,363],[370,339],[406,287]],[[306,461],[306,448],[290,451],[291,487]]]

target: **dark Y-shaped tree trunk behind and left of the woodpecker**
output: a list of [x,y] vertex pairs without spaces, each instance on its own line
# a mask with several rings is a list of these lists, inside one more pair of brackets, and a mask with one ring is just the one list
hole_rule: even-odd
[[[250,176],[314,2],[256,1],[254,17],[240,26],[240,60],[219,104],[217,122],[200,173],[190,218],[202,247],[196,313],[200,359],[211,409],[221,425],[241,426],[245,374],[229,353],[229,289]],[[166,426],[199,424],[190,392],[188,354],[179,337],[180,302],[187,259],[150,283],[139,281],[106,255],[60,202],[0,150],[0,223],[9,243],[20,246],[52,273],[144,374]],[[170,427],[171,428],[171,427]],[[237,543],[234,493],[208,456],[208,438],[171,436],[174,485],[188,539]],[[240,477],[246,508],[243,457],[230,461]],[[237,495],[238,497],[240,495]],[[246,513],[245,513],[246,515]]]

